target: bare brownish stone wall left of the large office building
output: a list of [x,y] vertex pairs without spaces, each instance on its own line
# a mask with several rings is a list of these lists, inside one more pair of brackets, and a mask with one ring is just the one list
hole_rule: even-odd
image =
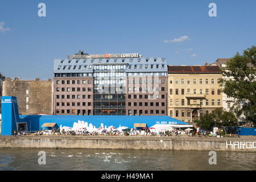
[[15,96],[19,114],[52,114],[52,81],[11,80],[3,82],[3,96]]

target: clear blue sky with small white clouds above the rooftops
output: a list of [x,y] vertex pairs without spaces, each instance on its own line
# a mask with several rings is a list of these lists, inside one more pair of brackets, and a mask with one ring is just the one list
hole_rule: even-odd
[[[38,4],[46,3],[46,17]],[[209,3],[217,17],[210,17]],[[82,50],[204,65],[256,44],[256,1],[0,1],[0,72],[52,78],[53,59]]]

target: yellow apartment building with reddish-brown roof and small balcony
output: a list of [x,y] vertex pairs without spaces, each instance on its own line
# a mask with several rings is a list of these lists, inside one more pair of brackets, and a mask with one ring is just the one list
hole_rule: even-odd
[[168,115],[191,123],[222,107],[218,66],[168,65]]

